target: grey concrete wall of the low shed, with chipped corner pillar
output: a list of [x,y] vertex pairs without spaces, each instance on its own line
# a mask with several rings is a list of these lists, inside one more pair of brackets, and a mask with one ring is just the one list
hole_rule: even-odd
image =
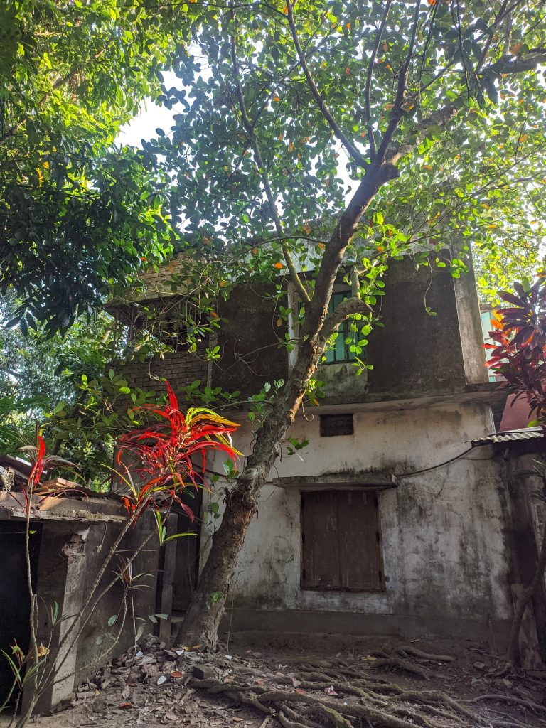
[[[63,503],[70,505],[68,500]],[[73,507],[78,503],[76,501]],[[110,508],[114,512],[121,512],[121,508],[115,505],[110,505]],[[47,511],[47,502],[44,511]],[[21,540],[24,521],[17,518],[17,514],[12,521],[2,520],[10,515],[6,508],[0,510],[0,534],[9,537],[15,529],[18,542],[12,537],[12,547],[15,545],[15,549],[9,551],[9,560],[15,558],[24,565]],[[106,657],[110,659],[121,654],[134,644],[131,601],[135,617],[146,620],[146,632],[154,631],[154,625],[148,621],[149,614],[157,611],[159,546],[154,519],[150,514],[143,515],[135,528],[127,531],[92,596],[95,579],[121,532],[124,518],[121,513],[119,516],[101,516],[97,513],[87,515],[87,520],[71,520],[45,513],[42,521],[31,521],[33,530],[39,532],[39,545],[36,544],[39,553],[33,558],[33,571],[36,572],[34,588],[39,597],[36,620],[38,642],[50,646],[52,655],[49,659],[55,659],[56,670],[55,681],[46,687],[36,706],[37,713],[48,711],[52,705],[70,697],[74,686],[93,675]],[[139,553],[132,562],[132,574],[141,576],[135,578],[134,584],[146,588],[129,590],[124,598],[124,584],[116,577],[121,570],[122,558],[130,558],[136,552]],[[5,577],[12,578],[13,574],[8,572],[3,576],[0,587],[5,590],[9,586]],[[170,587],[170,584],[166,586]],[[20,574],[4,601],[7,604],[4,605],[3,616],[11,622],[8,621],[2,630],[2,646],[7,649],[9,644],[13,644],[12,639],[17,638],[23,649],[27,649],[28,628],[23,623],[23,632],[18,633],[17,630],[21,629],[20,620],[15,620],[16,608],[23,617],[25,613],[28,614],[28,590]],[[53,625],[55,604],[58,621]],[[170,612],[170,606],[167,611]],[[111,617],[114,616],[116,620],[112,623],[114,620]],[[79,622],[73,629],[76,620]],[[140,624],[138,621],[137,628]],[[27,699],[28,695],[23,694],[23,701]]]

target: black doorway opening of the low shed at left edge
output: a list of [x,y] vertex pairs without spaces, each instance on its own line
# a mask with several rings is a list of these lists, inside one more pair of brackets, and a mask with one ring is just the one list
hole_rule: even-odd
[[[33,589],[36,588],[40,542],[41,524],[31,523],[29,546]],[[24,521],[0,521],[0,554],[0,650],[11,657],[15,644],[27,654],[31,637]],[[0,705],[9,695],[13,680],[9,662],[0,653]],[[12,695],[12,704],[16,697],[17,690]]]

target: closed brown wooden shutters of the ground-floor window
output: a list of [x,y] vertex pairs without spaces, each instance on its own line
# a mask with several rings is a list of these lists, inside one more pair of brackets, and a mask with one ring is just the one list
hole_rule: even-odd
[[302,491],[301,587],[383,588],[375,490]]

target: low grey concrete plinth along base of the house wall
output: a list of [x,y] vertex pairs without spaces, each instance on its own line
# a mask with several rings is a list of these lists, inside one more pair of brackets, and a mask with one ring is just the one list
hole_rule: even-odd
[[[229,628],[229,616],[221,629]],[[321,633],[337,635],[396,635],[405,639],[422,637],[483,640],[494,638],[503,649],[510,633],[510,620],[474,620],[468,617],[417,616],[414,614],[357,614],[352,612],[311,612],[304,609],[235,608],[233,632]]]

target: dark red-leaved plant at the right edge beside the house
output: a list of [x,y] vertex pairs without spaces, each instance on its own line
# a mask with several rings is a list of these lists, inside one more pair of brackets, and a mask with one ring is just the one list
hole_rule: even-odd
[[514,283],[515,293],[500,291],[510,306],[498,309],[491,321],[495,344],[488,367],[502,376],[515,393],[526,397],[536,424],[546,432],[546,272],[529,288]]

